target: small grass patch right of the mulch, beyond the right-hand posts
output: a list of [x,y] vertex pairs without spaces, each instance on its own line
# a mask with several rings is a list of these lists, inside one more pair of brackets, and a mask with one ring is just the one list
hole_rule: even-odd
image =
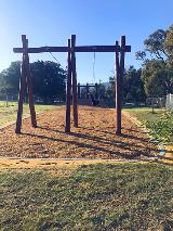
[[136,117],[139,121],[155,121],[157,118],[160,118],[165,110],[164,108],[155,108],[152,113],[152,108],[150,107],[136,107],[136,108],[123,108],[122,112],[130,113],[132,116]]

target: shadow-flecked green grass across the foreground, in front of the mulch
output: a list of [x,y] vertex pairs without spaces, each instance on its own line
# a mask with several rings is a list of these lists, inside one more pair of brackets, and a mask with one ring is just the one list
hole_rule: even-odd
[[129,163],[52,170],[1,170],[0,230],[173,229],[171,167]]

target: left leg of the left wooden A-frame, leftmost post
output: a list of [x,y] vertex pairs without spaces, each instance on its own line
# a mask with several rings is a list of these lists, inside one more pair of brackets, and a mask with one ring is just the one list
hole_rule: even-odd
[[[22,36],[23,49],[24,49],[25,47],[24,47],[23,38],[24,38],[24,36]],[[26,68],[25,68],[25,52],[23,52],[23,62],[22,62],[21,78],[19,78],[18,107],[17,107],[17,119],[16,119],[15,133],[21,133],[25,87],[26,87]]]

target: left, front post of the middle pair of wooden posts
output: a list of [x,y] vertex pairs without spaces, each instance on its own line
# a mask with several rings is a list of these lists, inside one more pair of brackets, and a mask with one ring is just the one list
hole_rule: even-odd
[[68,57],[67,57],[67,84],[66,84],[66,126],[65,132],[70,132],[70,105],[71,105],[71,52],[70,39],[68,39]]

